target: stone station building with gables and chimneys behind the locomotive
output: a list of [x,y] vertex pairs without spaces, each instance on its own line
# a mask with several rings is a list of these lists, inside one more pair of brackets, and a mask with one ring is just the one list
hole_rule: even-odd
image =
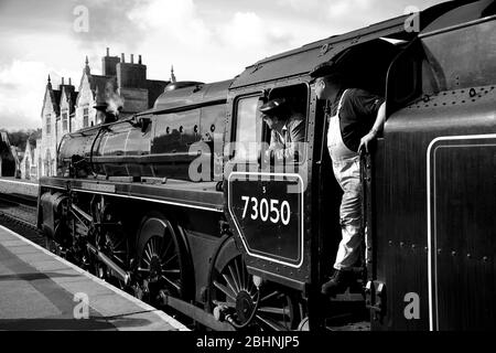
[[[171,81],[175,82],[173,72]],[[21,161],[22,178],[55,175],[56,149],[62,137],[94,126],[97,122],[95,106],[111,101],[119,106],[119,117],[127,117],[152,108],[171,81],[148,79],[141,55],[134,62],[131,54],[126,62],[125,54],[110,56],[109,49],[101,58],[101,75],[91,73],[86,57],[77,89],[71,78],[65,82],[64,77],[54,87],[48,75],[41,111],[41,136],[26,143]]]

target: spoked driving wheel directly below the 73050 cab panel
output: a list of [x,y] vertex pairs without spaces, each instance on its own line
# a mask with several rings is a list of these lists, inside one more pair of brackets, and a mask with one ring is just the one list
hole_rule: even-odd
[[[233,243],[234,244],[234,243]],[[302,308],[298,297],[272,284],[255,286],[242,256],[217,258],[211,277],[212,310],[222,310],[237,329],[288,331],[298,328]]]

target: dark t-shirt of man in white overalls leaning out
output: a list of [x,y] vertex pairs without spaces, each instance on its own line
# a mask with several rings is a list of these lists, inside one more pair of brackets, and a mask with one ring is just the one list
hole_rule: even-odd
[[[337,110],[337,105],[343,95],[341,92],[333,103],[332,115]],[[385,101],[384,97],[371,94],[360,88],[349,88],[343,98],[339,111],[339,127],[343,142],[348,149],[357,152],[360,139],[370,131],[377,117],[379,107]]]

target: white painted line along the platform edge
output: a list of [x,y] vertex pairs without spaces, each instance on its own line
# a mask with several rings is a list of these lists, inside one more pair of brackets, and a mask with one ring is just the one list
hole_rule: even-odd
[[45,253],[48,256],[52,256],[53,258],[55,258],[56,260],[63,263],[64,265],[67,265],[68,267],[71,267],[72,269],[74,269],[75,271],[82,274],[83,276],[86,276],[87,278],[89,278],[90,280],[93,280],[94,282],[101,285],[110,290],[112,290],[114,292],[116,292],[117,295],[126,298],[129,301],[132,301],[133,303],[136,303],[137,306],[139,306],[140,308],[142,308],[144,311],[151,311],[154,314],[157,314],[160,319],[162,319],[163,321],[165,321],[166,323],[169,323],[171,327],[173,327],[176,330],[180,331],[191,331],[190,329],[187,329],[184,324],[182,324],[181,322],[179,322],[177,320],[169,317],[165,312],[158,310],[157,308],[153,308],[152,306],[149,306],[144,302],[142,302],[141,300],[138,300],[137,298],[132,297],[131,295],[128,295],[127,292],[109,285],[108,282],[106,282],[105,280],[99,279],[96,276],[93,276],[91,274],[85,271],[84,269],[80,269],[79,267],[77,267],[74,264],[71,264],[69,261],[67,261],[66,259],[63,259],[62,257],[48,252],[47,249],[41,247],[40,245],[31,242],[30,239],[24,238],[23,236],[17,234],[15,232],[12,232],[9,228],[6,228],[4,226],[0,225],[0,228],[12,234],[13,236],[18,237],[19,239],[23,240],[24,243],[34,246],[35,248],[42,250],[43,253]]

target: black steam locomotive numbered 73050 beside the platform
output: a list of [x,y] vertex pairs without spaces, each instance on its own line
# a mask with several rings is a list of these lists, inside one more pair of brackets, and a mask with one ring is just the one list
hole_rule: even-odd
[[[214,330],[453,330],[496,323],[496,7],[444,2],[169,86],[154,107],[66,135],[40,180],[58,254]],[[360,279],[325,298],[341,239],[326,107],[331,61],[386,96],[363,156]],[[305,117],[304,158],[265,165],[258,107]],[[353,322],[351,322],[353,321]]]

